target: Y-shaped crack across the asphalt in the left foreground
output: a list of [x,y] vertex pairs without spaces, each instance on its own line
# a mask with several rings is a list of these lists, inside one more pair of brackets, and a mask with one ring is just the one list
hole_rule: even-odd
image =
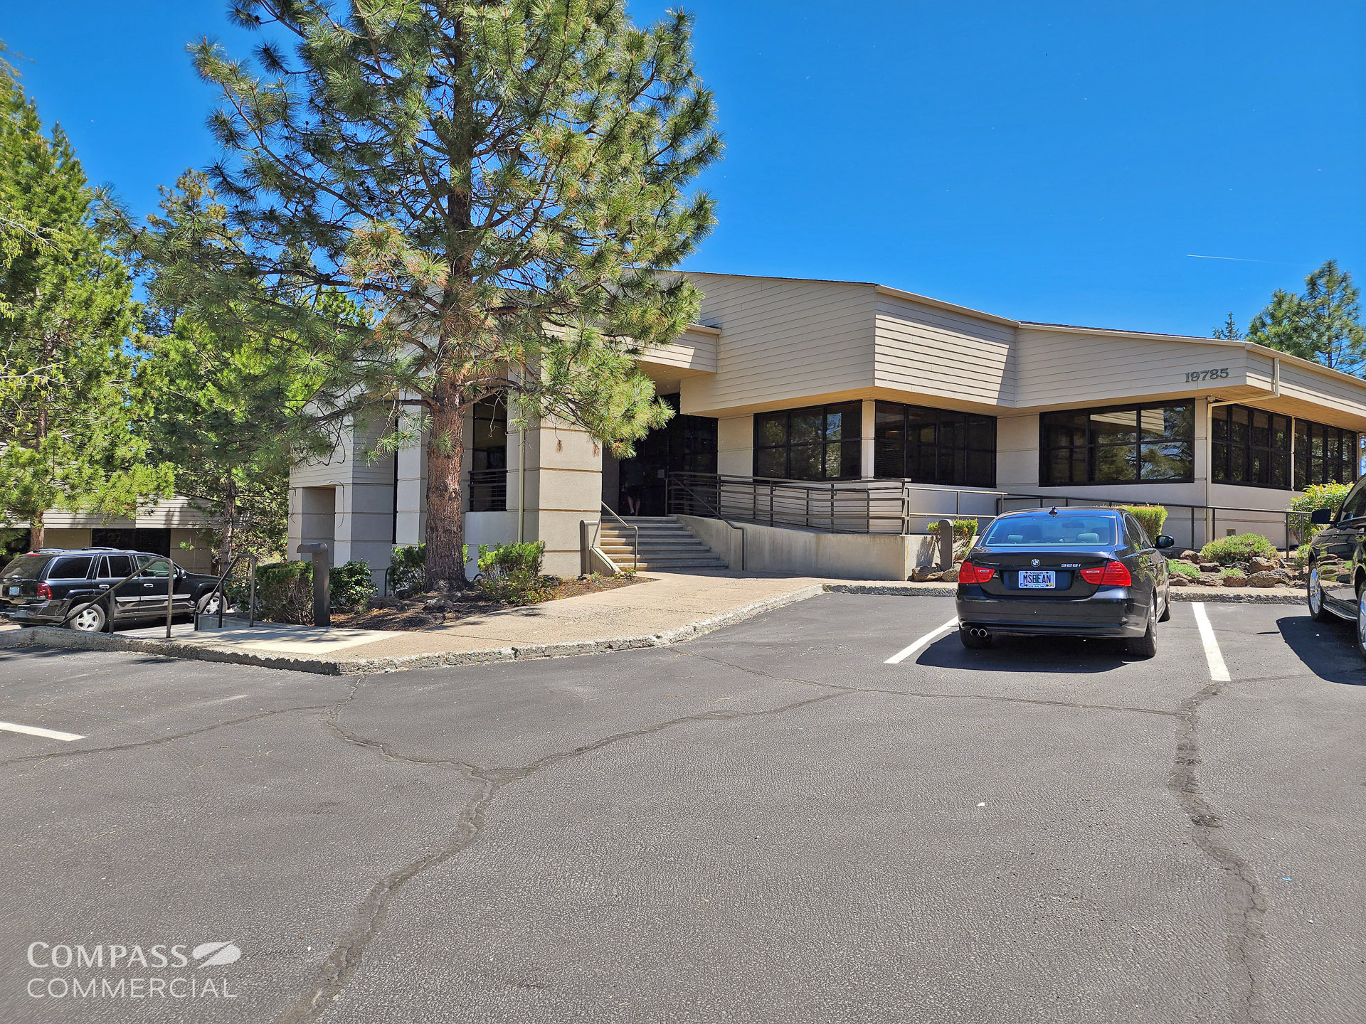
[[361,965],[361,960],[365,956],[366,949],[370,946],[370,942],[374,941],[384,927],[384,919],[388,916],[389,904],[393,901],[395,893],[406,882],[411,881],[423,871],[428,871],[466,851],[482,833],[485,812],[503,786],[519,782],[542,769],[583,756],[585,754],[591,754],[593,751],[602,750],[604,747],[609,747],[615,743],[639,739],[641,736],[652,736],[676,725],[684,725],[688,722],[735,721],[739,718],[761,718],[766,715],[783,714],[784,711],[794,711],[799,707],[809,707],[810,705],[822,703],[825,700],[833,700],[837,696],[841,696],[841,694],[821,694],[803,700],[794,700],[777,707],[766,707],[755,711],[699,711],[698,714],[680,715],[678,718],[669,718],[639,729],[612,733],[570,750],[546,754],[545,756],[537,758],[535,760],[520,767],[481,767],[463,760],[418,758],[398,754],[387,743],[358,736],[357,733],[342,726],[336,721],[342,710],[342,705],[337,705],[337,707],[329,713],[328,721],[324,725],[342,741],[355,744],[366,750],[378,751],[389,760],[459,769],[467,778],[479,784],[479,791],[460,811],[451,842],[438,851],[426,853],[425,856],[391,871],[376,882],[370,892],[366,893],[365,900],[357,911],[355,923],[333,946],[332,954],[314,975],[313,983],[288,1006],[285,1006],[284,1010],[280,1012],[273,1024],[310,1024],[322,1016],[328,1005],[335,1002],[342,995],[342,990],[346,987],[347,982],[351,980],[351,975],[355,973],[357,968]]

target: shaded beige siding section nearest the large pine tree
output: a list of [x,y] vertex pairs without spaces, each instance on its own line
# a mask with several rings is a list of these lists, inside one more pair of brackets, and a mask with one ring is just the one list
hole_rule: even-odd
[[828,281],[688,274],[702,289],[698,319],[720,328],[716,377],[684,382],[684,412],[873,384],[874,289]]

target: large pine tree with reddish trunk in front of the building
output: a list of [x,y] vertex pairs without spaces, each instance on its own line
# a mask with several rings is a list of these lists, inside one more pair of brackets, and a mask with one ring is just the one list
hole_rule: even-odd
[[[194,291],[261,318],[328,288],[366,309],[348,393],[384,403],[389,445],[426,434],[428,583],[462,582],[470,404],[510,396],[520,422],[570,421],[620,455],[669,415],[632,356],[699,304],[661,273],[713,224],[710,198],[684,191],[721,150],[691,20],[641,30],[624,0],[238,0],[232,14],[294,51],[266,42],[249,66],[194,48],[223,91],[213,182],[243,235]],[[158,258],[190,250],[168,238]],[[246,280],[261,287],[242,299]]]

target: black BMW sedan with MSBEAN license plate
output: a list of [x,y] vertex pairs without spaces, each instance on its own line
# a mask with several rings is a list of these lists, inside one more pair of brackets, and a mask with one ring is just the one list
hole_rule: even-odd
[[1171,617],[1161,549],[1128,512],[1053,508],[997,516],[958,576],[958,635],[988,647],[999,634],[1123,638],[1130,654],[1157,653]]

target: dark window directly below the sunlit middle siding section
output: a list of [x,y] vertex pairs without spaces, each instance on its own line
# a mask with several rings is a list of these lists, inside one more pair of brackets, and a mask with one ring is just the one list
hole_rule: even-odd
[[877,403],[873,472],[912,483],[996,486],[996,418]]

